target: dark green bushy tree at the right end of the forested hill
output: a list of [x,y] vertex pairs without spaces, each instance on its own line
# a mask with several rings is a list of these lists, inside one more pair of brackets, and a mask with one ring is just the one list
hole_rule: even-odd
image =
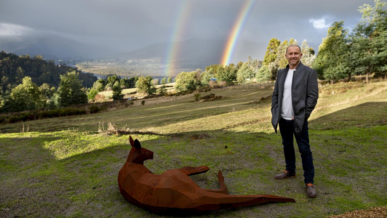
[[86,92],[82,90],[82,81],[78,79],[75,71],[60,75],[58,88],[58,104],[60,107],[67,107],[72,104],[87,103]]

